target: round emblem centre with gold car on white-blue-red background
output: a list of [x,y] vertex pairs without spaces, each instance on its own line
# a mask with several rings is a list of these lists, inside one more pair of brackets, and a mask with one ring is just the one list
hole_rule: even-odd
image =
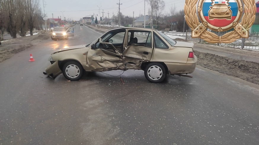
[[200,20],[207,22],[207,28],[214,31],[227,31],[239,22],[242,16],[240,0],[199,0]]

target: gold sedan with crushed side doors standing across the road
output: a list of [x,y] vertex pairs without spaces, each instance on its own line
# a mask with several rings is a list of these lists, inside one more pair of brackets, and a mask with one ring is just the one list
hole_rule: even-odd
[[183,74],[196,67],[193,46],[155,29],[115,28],[91,44],[52,53],[51,65],[43,73],[52,78],[63,73],[68,80],[79,80],[84,72],[135,69],[144,70],[148,81],[160,83],[166,75],[191,77]]

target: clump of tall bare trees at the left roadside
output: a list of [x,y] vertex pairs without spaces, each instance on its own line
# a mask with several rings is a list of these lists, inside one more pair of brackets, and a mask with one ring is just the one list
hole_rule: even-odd
[[41,26],[39,0],[0,0],[0,9],[1,27],[6,29],[12,38],[16,38],[17,32],[25,36],[28,30],[33,35],[33,29],[39,29]]

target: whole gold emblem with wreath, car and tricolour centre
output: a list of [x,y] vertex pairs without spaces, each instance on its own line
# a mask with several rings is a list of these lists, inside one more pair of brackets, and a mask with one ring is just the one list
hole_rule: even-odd
[[[231,43],[239,38],[248,38],[248,30],[255,21],[255,0],[186,0],[184,14],[192,30],[191,37],[201,38],[209,43]],[[243,14],[243,17],[242,17]],[[242,20],[240,22],[240,19]],[[240,23],[239,23],[240,22]],[[218,36],[207,29],[221,32],[233,31]]]

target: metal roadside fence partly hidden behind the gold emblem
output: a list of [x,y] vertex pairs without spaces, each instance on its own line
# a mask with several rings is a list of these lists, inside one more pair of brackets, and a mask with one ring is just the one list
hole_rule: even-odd
[[[214,32],[218,36],[222,36],[227,32]],[[186,31],[186,41],[202,43],[202,44],[212,44],[204,41],[200,38],[192,38],[191,37],[191,30]],[[227,46],[227,47],[234,47],[239,49],[248,49],[248,50],[259,50],[259,32],[249,33],[248,38],[240,38],[237,39],[235,42],[232,43],[218,43],[212,45],[219,45],[219,46]]]

